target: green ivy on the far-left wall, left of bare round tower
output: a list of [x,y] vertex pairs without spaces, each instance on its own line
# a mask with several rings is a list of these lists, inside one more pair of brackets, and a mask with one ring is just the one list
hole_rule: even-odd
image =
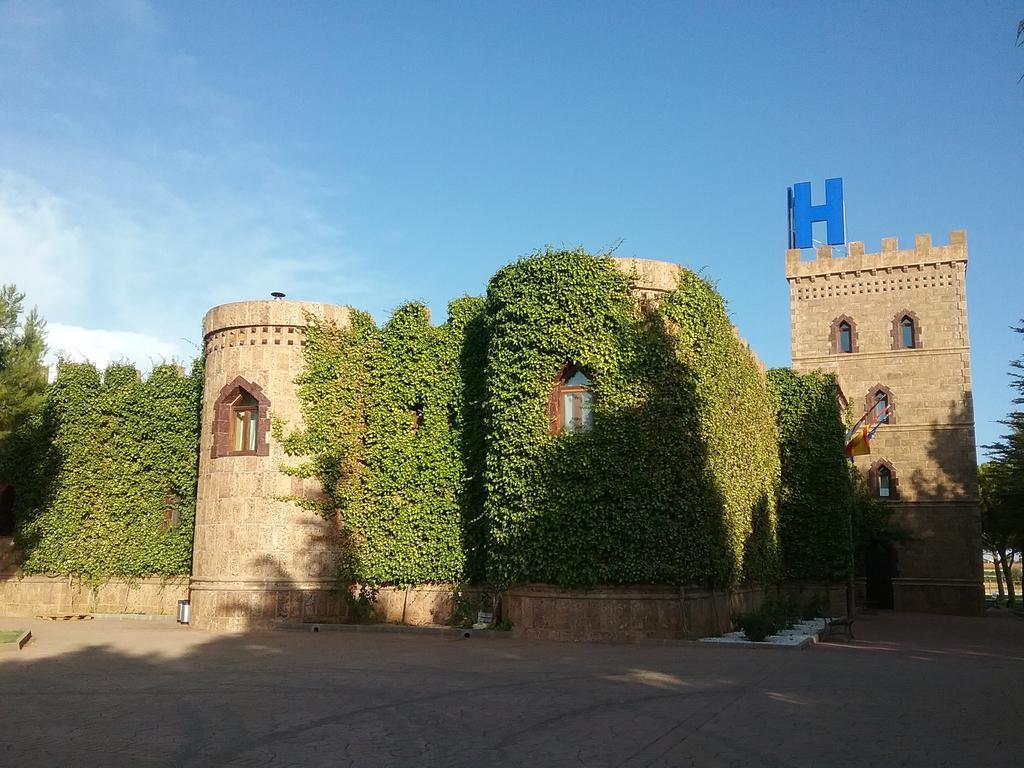
[[[12,437],[0,475],[15,486],[23,570],[142,578],[187,573],[196,512],[202,365],[62,361],[45,404]],[[176,497],[177,525],[165,524]]]

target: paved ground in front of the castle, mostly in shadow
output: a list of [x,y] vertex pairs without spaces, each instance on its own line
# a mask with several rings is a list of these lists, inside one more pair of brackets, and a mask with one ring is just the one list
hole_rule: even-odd
[[1020,766],[1024,622],[807,651],[129,621],[0,656],[2,766]]

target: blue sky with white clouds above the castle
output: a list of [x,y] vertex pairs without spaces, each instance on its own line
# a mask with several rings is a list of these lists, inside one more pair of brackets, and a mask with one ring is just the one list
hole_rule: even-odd
[[0,282],[51,358],[190,360],[216,304],[387,319],[545,245],[716,281],[790,365],[785,191],[966,228],[978,442],[1024,317],[1024,3],[0,0]]

